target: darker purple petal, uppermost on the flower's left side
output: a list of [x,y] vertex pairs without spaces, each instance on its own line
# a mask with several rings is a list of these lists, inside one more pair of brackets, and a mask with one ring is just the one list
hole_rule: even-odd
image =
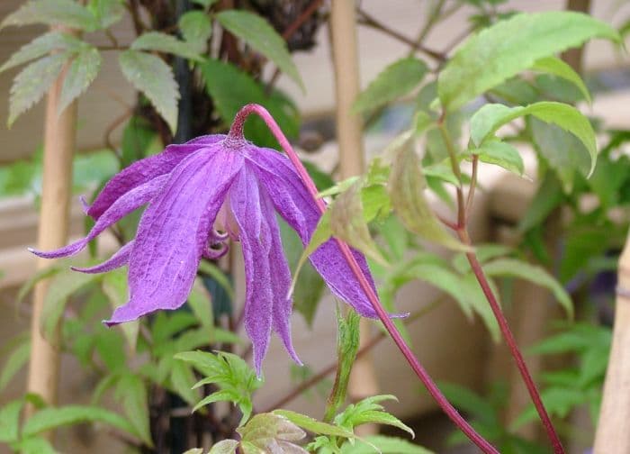
[[86,213],[94,219],[98,219],[111,204],[126,192],[155,177],[167,174],[194,151],[224,138],[225,136],[220,134],[198,137],[186,143],[168,145],[161,153],[134,162],[109,180]]

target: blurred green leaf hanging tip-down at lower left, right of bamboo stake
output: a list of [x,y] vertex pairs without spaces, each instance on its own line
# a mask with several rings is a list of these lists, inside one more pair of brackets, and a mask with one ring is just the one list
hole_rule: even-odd
[[147,387],[136,375],[124,374],[116,384],[115,398],[122,404],[125,415],[148,447],[153,446],[148,418]]

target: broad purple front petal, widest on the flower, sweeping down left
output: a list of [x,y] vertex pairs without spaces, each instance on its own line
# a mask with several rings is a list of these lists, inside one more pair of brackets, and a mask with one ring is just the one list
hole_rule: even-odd
[[184,304],[212,222],[242,165],[239,153],[215,145],[173,169],[139,222],[129,262],[130,301],[106,324]]

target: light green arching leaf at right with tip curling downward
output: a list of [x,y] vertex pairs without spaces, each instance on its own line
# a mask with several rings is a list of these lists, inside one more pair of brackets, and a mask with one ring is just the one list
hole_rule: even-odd
[[485,104],[471,118],[471,139],[480,146],[491,138],[502,125],[524,116],[533,115],[545,123],[553,123],[580,139],[590,153],[590,171],[595,168],[598,150],[595,132],[589,120],[569,104],[543,101],[526,107],[508,107],[503,104]]

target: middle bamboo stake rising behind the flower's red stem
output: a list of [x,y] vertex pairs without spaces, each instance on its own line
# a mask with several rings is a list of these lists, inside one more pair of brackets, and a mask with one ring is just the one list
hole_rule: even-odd
[[[337,102],[337,140],[341,177],[363,173],[363,123],[352,113],[352,104],[360,91],[359,62],[356,50],[356,12],[352,0],[332,0],[330,11],[332,54],[335,67],[335,98]],[[362,320],[359,348],[369,341],[371,324]],[[356,359],[350,375],[348,395],[359,400],[378,393],[378,382],[371,355]],[[375,427],[370,431],[374,432]]]

